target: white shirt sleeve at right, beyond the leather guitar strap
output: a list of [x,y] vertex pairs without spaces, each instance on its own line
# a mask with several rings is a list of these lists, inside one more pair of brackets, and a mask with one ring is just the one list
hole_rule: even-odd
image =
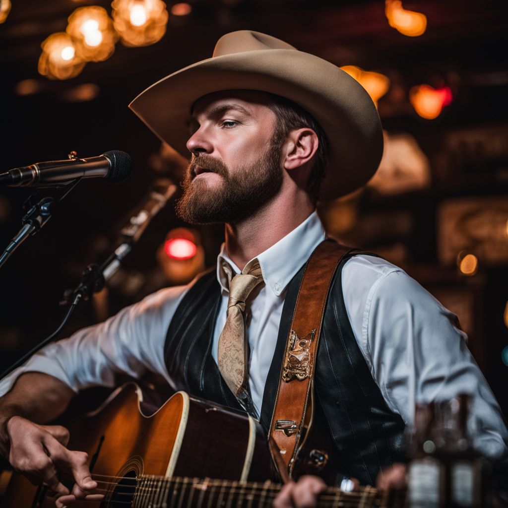
[[508,454],[500,407],[472,358],[457,316],[402,270],[381,276],[367,298],[363,329],[371,370],[389,407],[407,425],[415,402],[471,395],[473,446],[491,458]]

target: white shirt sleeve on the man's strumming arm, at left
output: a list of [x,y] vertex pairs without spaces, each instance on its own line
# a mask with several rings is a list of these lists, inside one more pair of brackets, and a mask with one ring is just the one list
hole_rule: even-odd
[[50,374],[75,392],[90,386],[112,387],[115,374],[138,378],[147,370],[162,374],[171,383],[164,362],[164,342],[188,287],[158,291],[104,323],[49,344],[2,380],[0,396],[25,372]]

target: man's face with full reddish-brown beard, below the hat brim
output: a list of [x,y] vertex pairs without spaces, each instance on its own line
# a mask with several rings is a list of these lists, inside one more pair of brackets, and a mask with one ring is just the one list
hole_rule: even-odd
[[262,92],[229,91],[194,105],[187,148],[193,153],[178,215],[191,224],[241,221],[258,211],[282,184],[281,140]]

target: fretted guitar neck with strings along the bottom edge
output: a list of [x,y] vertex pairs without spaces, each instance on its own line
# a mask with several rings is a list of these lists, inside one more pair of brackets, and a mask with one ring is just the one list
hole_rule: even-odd
[[[123,492],[113,492],[111,503],[125,503],[126,489],[130,489],[133,508],[268,508],[279,493],[281,485],[258,482],[236,482],[231,480],[210,480],[196,478],[161,478],[143,476],[132,479],[131,486],[124,486]],[[117,488],[118,489],[118,488]],[[343,492],[329,487],[323,492],[317,506],[393,506],[388,494],[372,487],[362,487],[355,492]]]

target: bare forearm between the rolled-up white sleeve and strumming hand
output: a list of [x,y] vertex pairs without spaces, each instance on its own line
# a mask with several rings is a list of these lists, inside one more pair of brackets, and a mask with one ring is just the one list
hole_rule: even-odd
[[60,415],[74,392],[56,377],[42,372],[21,375],[4,397],[0,398],[0,453],[9,450],[7,422],[20,416],[35,423],[46,423]]

